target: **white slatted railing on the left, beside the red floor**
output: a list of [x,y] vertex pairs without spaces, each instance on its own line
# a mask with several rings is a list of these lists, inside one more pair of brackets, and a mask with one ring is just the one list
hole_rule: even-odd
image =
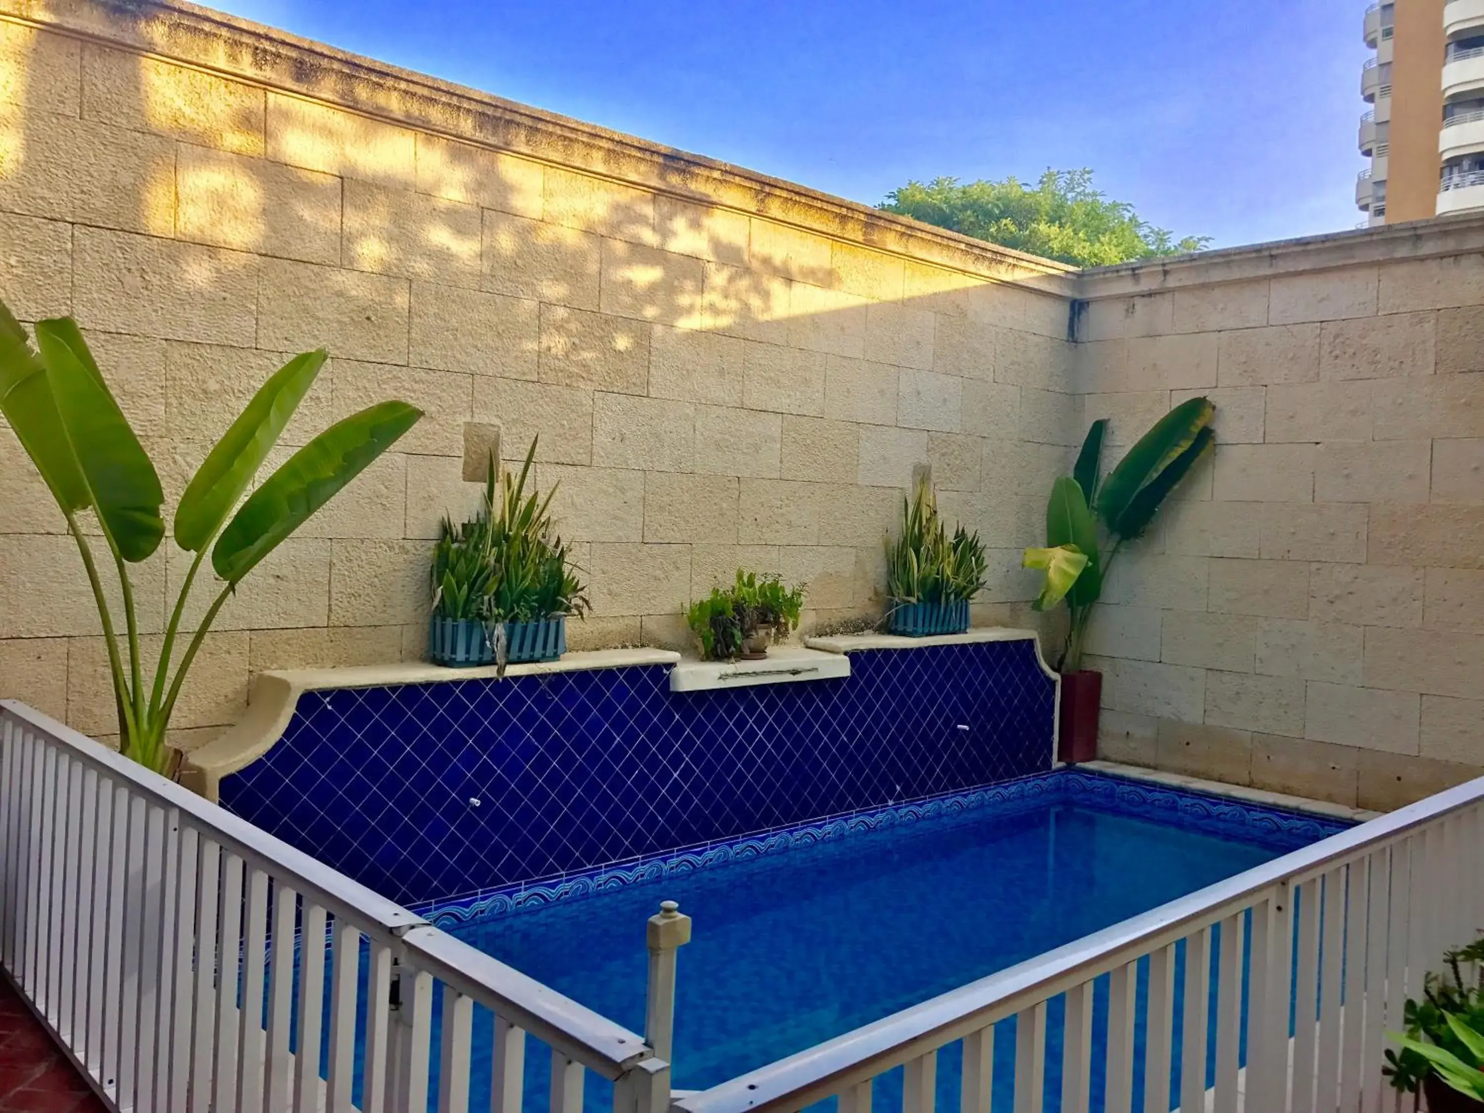
[[589,1073],[619,1113],[669,1104],[644,1037],[10,700],[0,966],[114,1110],[519,1113],[546,1089],[580,1113]]

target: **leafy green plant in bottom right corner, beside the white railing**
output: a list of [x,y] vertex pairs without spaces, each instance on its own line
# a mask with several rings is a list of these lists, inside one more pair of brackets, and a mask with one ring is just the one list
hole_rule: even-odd
[[1405,1033],[1392,1036],[1401,1049],[1386,1052],[1383,1073],[1401,1094],[1420,1091],[1429,1113],[1477,1112],[1484,1109],[1484,938],[1442,960],[1447,974],[1428,974],[1422,1000],[1407,1000]]

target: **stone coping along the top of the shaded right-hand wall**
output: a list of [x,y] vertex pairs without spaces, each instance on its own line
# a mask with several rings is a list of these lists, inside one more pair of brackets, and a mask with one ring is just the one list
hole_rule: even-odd
[[1077,298],[1098,301],[1477,251],[1484,251],[1484,214],[1437,217],[1376,229],[1328,232],[1270,243],[1092,267],[1077,275]]

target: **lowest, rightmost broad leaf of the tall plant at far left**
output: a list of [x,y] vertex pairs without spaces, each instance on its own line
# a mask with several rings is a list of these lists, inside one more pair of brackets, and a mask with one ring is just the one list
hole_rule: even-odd
[[211,551],[217,574],[237,583],[421,416],[407,402],[380,402],[337,421],[294,453],[221,531]]

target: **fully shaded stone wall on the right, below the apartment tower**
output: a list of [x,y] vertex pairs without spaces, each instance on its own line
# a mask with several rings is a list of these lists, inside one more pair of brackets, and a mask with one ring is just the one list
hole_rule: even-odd
[[1082,276],[1085,417],[1217,402],[1094,617],[1110,758],[1391,807],[1484,766],[1480,221]]

